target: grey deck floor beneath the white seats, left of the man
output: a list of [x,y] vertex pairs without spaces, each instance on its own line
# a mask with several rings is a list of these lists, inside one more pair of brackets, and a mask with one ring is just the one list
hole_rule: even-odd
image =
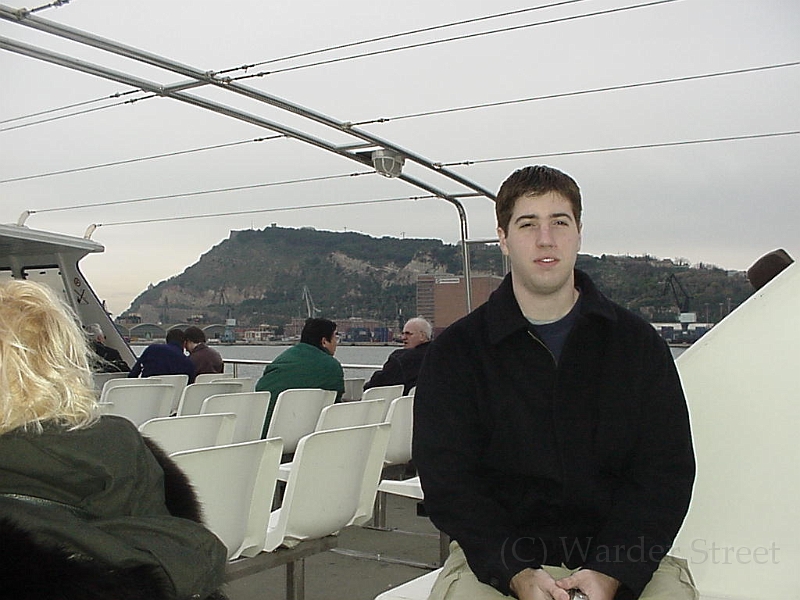
[[[416,508],[416,500],[389,496],[389,531],[348,527],[339,534],[338,548],[307,558],[306,600],[373,600],[429,571],[395,559],[437,566],[439,533],[427,518],[417,516]],[[229,600],[285,600],[286,570],[270,569],[225,589]]]

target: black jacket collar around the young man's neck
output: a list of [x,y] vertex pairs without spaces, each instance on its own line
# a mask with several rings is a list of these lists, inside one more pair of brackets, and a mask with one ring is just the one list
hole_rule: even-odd
[[[615,321],[616,313],[611,301],[595,287],[589,276],[575,269],[575,285],[581,290],[580,316],[596,315]],[[486,304],[486,318],[489,325],[489,341],[498,344],[519,330],[527,330],[530,323],[522,314],[511,285],[511,273],[506,275]]]

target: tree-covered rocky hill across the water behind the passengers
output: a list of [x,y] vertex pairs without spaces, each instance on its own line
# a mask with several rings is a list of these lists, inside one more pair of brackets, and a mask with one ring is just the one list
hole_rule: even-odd
[[[472,245],[473,275],[502,274],[496,245]],[[699,320],[719,320],[752,292],[743,273],[690,266],[650,256],[580,255],[589,273],[616,302],[651,321],[677,320],[678,300],[665,282],[674,274],[691,296]],[[390,324],[416,314],[419,274],[461,274],[461,250],[434,239],[375,238],[311,228],[232,231],[183,273],[150,286],[121,316],[143,322],[235,316],[240,326],[283,325],[306,316],[304,288],[331,319],[351,316]]]

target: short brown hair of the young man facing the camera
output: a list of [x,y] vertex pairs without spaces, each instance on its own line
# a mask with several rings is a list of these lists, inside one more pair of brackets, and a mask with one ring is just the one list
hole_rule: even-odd
[[553,167],[534,165],[514,171],[500,186],[495,200],[497,226],[508,233],[508,223],[514,214],[514,206],[522,196],[542,196],[549,192],[561,194],[572,205],[575,222],[580,225],[581,190],[575,180]]

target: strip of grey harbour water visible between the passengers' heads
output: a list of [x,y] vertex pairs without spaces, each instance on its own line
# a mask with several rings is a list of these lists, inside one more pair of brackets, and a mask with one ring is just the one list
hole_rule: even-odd
[[[344,346],[336,349],[336,358],[343,365],[368,365],[365,368],[345,368],[345,377],[364,377],[369,379],[372,372],[378,369],[389,355],[401,346]],[[138,356],[146,346],[131,346]],[[281,352],[289,348],[286,346],[213,346],[222,355],[223,359],[239,360],[274,360]],[[672,357],[678,358],[686,348],[671,348]],[[228,370],[228,367],[226,370]],[[263,365],[239,365],[237,375],[240,377],[261,377]]]

